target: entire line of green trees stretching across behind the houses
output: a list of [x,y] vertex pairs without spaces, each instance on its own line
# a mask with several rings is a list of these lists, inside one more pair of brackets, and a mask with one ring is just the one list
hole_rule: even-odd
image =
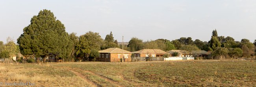
[[[64,24],[56,20],[54,14],[49,10],[40,11],[37,16],[33,16],[30,25],[23,29],[23,33],[17,39],[18,46],[13,41],[7,44],[0,43],[0,55],[13,55],[12,51],[4,49],[9,45],[15,45],[17,53],[29,57],[55,56],[56,58],[73,59],[76,57],[95,58],[99,56],[98,50],[107,48],[122,48],[122,45],[114,39],[113,33],[106,35],[105,39],[93,31],[88,31],[84,35],[76,36],[76,33],[68,34]],[[232,37],[218,36],[217,30],[213,30],[210,41],[192,40],[191,37],[181,37],[173,41],[167,39],[157,39],[145,41],[133,37],[128,45],[124,45],[124,50],[131,52],[142,49],[187,50],[190,55],[192,50],[206,50],[212,52],[211,58],[229,57],[250,57],[255,53],[256,41],[250,43],[248,39],[234,41]],[[241,54],[241,55],[240,55]],[[4,57],[3,57],[4,58]]]

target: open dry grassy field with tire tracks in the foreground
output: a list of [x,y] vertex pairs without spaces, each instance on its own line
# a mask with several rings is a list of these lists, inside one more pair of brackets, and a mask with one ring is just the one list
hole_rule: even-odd
[[256,62],[2,63],[0,82],[31,82],[38,87],[256,86]]

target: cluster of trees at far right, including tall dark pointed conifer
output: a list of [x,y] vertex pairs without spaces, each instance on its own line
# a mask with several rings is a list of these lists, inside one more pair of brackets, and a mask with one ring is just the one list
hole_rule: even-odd
[[235,41],[232,37],[218,36],[217,30],[213,30],[211,40],[208,42],[209,48],[212,51],[212,58],[225,59],[234,57],[252,57],[256,52],[256,40],[250,43],[248,39]]

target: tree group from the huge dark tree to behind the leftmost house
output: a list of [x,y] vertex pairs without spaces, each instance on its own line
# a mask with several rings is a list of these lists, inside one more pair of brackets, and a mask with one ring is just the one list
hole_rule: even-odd
[[68,34],[64,24],[56,20],[54,14],[46,9],[33,16],[30,25],[23,31],[17,43],[20,53],[26,57],[98,57],[98,50],[119,47],[112,32],[106,35],[104,40],[99,33],[93,31],[88,31],[80,37],[76,36],[76,33]]

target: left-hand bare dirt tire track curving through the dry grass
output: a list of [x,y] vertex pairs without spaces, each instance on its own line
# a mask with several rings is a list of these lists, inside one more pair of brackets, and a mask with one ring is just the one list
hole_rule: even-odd
[[[65,68],[65,69],[67,69],[67,68]],[[67,69],[67,70],[69,70],[69,69]],[[86,76],[84,76],[83,74],[81,74],[81,73],[79,73],[79,72],[76,72],[76,71],[74,71],[74,70],[69,70],[69,71],[73,72],[74,74],[76,74],[76,76],[79,76],[80,78],[82,78],[83,80],[85,80],[85,82],[89,83],[89,84],[90,84],[90,85],[89,85],[90,87],[100,87],[100,86],[98,86],[97,83],[88,80],[88,79],[86,78]]]

